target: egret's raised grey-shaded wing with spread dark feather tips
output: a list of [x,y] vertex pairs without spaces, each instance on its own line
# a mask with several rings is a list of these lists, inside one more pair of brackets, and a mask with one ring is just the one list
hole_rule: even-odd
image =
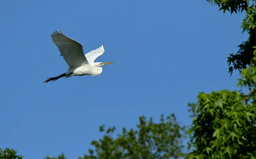
[[87,63],[81,43],[62,34],[60,30],[51,34],[53,43],[58,47],[68,66],[72,69]]

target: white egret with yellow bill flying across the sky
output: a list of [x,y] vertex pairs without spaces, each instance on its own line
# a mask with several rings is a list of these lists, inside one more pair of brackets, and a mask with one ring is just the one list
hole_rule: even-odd
[[103,45],[84,55],[82,44],[62,34],[60,30],[58,30],[58,32],[53,32],[51,37],[53,43],[61,52],[60,56],[63,56],[69,68],[66,73],[56,77],[47,78],[43,83],[56,81],[61,77],[68,78],[71,76],[100,75],[102,73],[102,66],[113,64],[113,62],[94,62],[96,58],[105,52]]

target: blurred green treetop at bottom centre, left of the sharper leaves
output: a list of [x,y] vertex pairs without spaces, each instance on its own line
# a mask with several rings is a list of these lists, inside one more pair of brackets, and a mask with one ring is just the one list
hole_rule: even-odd
[[162,115],[160,123],[154,123],[152,118],[146,121],[144,116],[139,119],[138,130],[123,128],[116,139],[112,137],[115,127],[105,131],[105,126],[101,126],[99,129],[105,131],[105,135],[99,141],[92,141],[95,149],[79,159],[177,159],[185,156],[181,145],[185,127],[180,127],[174,114],[166,119]]

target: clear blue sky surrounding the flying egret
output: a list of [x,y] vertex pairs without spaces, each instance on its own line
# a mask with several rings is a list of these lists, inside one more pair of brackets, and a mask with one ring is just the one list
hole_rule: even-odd
[[[223,15],[205,0],[25,0],[0,2],[0,147],[25,159],[87,153],[99,125],[135,127],[145,115],[175,113],[190,124],[198,92],[235,90],[227,56],[247,39],[243,15]],[[103,45],[96,59],[114,62],[101,75],[47,77],[67,71],[50,34]]]

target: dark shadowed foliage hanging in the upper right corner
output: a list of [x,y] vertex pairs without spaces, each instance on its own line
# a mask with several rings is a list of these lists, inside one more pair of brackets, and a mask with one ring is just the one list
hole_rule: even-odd
[[254,57],[253,52],[255,50],[253,46],[255,46],[256,43],[256,0],[252,0],[251,5],[249,4],[249,0],[207,0],[207,2],[217,5],[224,13],[226,11],[229,11],[231,14],[243,11],[246,13],[241,28],[243,32],[249,34],[249,38],[238,46],[239,51],[236,54],[232,53],[230,57],[228,57],[227,62],[230,66],[230,74],[232,75],[233,70],[241,71],[241,69],[247,68],[248,65],[254,64],[255,60],[252,61],[252,58]]

